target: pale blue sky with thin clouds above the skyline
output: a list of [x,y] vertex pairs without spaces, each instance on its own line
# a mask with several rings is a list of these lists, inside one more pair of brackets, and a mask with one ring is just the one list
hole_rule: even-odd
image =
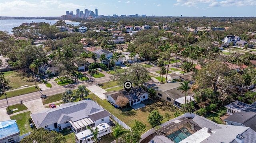
[[256,0],[0,0],[0,16],[62,16],[98,8],[98,15],[256,17]]

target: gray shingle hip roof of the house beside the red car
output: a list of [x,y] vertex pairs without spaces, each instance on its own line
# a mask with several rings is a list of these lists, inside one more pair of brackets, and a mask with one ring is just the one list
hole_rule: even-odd
[[[87,118],[88,115],[96,114],[98,111],[104,111],[96,102],[92,100],[82,100],[74,103],[62,104],[58,108],[52,108],[31,114],[31,118],[37,128],[45,127],[53,123],[64,123],[65,121],[78,121],[83,118]],[[101,115],[99,115],[101,116]]]

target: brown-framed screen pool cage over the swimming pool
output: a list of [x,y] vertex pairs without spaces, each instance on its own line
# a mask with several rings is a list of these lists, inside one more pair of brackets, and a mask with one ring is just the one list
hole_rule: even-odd
[[175,143],[178,143],[200,129],[202,128],[198,126],[191,118],[182,117],[156,129],[154,131],[154,136],[164,135]]

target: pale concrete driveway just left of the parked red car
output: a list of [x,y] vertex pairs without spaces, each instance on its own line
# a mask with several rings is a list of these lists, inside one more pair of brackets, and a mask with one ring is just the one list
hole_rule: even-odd
[[46,110],[46,108],[44,108],[41,98],[23,102],[23,104],[30,110],[32,114],[40,112],[42,110]]

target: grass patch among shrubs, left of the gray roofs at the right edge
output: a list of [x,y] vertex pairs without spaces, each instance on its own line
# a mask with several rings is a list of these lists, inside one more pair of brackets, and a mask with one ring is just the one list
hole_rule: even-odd
[[216,123],[220,123],[220,124],[224,124],[224,122],[222,122],[220,120],[220,113],[221,112],[226,112],[227,108],[225,107],[221,107],[220,109],[214,111],[214,112],[206,112],[206,115],[204,116],[207,119],[210,119]]

